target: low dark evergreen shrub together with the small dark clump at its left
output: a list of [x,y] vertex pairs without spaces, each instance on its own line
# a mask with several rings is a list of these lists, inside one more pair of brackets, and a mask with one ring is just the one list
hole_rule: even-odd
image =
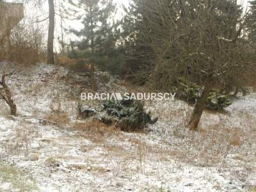
[[150,112],[145,111],[141,100],[106,100],[102,110],[79,106],[83,118],[96,118],[106,125],[116,125],[121,131],[143,131],[148,124],[155,124],[158,118],[152,119]]

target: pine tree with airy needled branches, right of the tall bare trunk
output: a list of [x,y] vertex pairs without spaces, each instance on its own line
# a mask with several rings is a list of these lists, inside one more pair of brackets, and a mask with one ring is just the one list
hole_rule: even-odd
[[[84,52],[84,57],[90,60],[92,70],[96,64],[102,69],[108,69],[108,64],[115,57],[116,41],[119,38],[119,23],[113,19],[116,5],[111,0],[79,0],[73,6],[83,10],[81,17],[83,29],[71,32],[82,38],[77,47]],[[94,73],[94,72],[93,72]]]

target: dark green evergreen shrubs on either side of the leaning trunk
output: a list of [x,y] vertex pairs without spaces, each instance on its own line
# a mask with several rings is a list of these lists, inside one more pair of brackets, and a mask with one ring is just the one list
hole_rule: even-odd
[[[200,98],[200,94],[203,92],[203,88],[195,83],[188,83],[184,79],[179,81],[179,89],[177,96],[186,100],[189,104],[195,104],[196,100]],[[210,93],[205,108],[212,111],[221,111],[232,104],[229,95],[221,93],[219,90],[212,90]]]

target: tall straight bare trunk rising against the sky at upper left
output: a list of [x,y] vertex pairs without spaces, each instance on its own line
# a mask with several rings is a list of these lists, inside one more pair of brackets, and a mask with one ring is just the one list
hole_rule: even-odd
[[54,64],[54,27],[55,27],[55,11],[53,0],[48,0],[49,3],[49,29],[48,29],[48,42],[47,42],[47,63]]

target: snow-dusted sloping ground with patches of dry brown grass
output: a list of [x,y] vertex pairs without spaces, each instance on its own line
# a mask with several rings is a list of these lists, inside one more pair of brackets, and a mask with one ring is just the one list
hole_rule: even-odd
[[[255,94],[225,114],[205,112],[196,133],[186,129],[184,102],[148,102],[159,122],[147,134],[126,133],[77,120],[79,93],[90,88],[83,74],[1,62],[8,70],[17,70],[8,84],[19,116],[0,102],[0,191],[255,190]],[[100,78],[98,88],[125,90]]]

